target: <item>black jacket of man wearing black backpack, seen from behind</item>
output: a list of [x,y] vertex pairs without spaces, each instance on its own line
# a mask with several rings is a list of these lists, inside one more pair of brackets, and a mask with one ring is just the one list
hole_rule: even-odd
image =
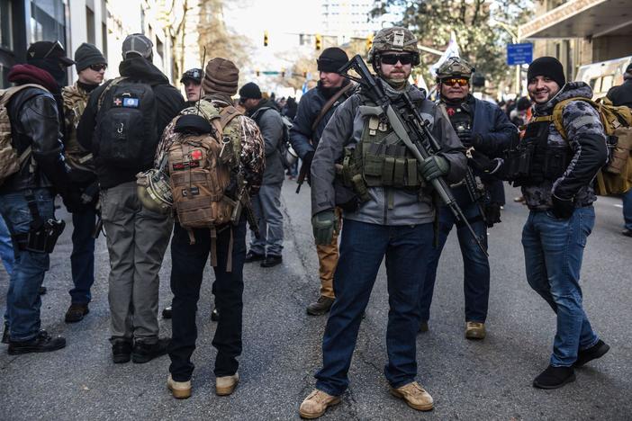
[[[122,169],[121,167],[106,166],[100,161],[98,155],[95,156],[96,175],[103,189],[131,182],[135,179],[137,173],[148,170],[152,166],[160,135],[162,135],[167,124],[186,106],[182,94],[180,94],[174,86],[169,85],[167,76],[163,75],[158,67],[154,66],[145,58],[134,57],[125,59],[119,66],[119,72],[121,76],[147,83],[153,87],[156,101],[158,102],[158,116],[156,118],[158,137],[153,140],[153,145],[147,146],[148,150],[151,149],[151,153],[148,153],[148,159],[139,163],[137,168]],[[86,110],[81,116],[77,127],[77,139],[79,139],[79,143],[92,152],[95,152],[93,137],[97,123],[96,114],[98,111],[98,101],[107,85],[109,85],[109,83],[99,86],[90,94]]]

